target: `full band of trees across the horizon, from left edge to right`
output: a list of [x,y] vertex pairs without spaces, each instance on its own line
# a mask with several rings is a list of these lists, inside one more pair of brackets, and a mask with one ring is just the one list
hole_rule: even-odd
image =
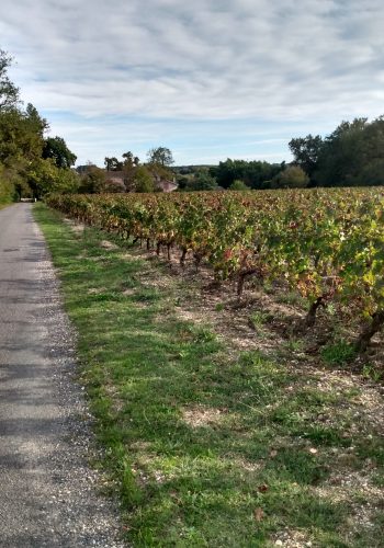
[[228,158],[218,165],[172,167],[171,150],[157,147],[145,162],[127,151],[122,159],[105,157],[104,169],[90,163],[75,171],[77,157],[65,140],[47,137],[48,122],[20,101],[11,64],[0,49],[0,203],[49,192],[156,192],[163,181],[183,192],[384,184],[384,116],[341,122],[326,137],[295,137],[290,163]]

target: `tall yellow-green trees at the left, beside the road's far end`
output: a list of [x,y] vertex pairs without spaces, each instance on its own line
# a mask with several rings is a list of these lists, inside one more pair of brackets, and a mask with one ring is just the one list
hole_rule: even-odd
[[8,76],[11,61],[0,49],[0,203],[75,192],[78,178],[69,167],[76,156],[60,137],[44,138],[48,124],[32,104],[22,107]]

